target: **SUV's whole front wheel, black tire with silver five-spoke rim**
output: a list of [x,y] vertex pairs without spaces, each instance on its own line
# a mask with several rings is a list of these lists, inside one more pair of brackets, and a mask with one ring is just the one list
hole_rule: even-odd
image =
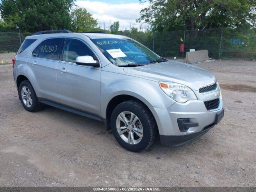
[[116,106],[111,116],[111,128],[118,143],[133,152],[150,148],[157,135],[153,115],[142,102],[136,100]]

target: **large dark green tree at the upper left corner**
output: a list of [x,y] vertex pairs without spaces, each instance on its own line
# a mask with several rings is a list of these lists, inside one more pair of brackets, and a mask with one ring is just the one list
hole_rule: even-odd
[[5,23],[22,31],[70,29],[74,0],[2,0],[0,11]]

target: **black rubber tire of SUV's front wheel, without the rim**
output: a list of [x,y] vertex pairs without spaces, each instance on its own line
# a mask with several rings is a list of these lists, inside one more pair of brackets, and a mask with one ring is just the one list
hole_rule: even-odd
[[[116,120],[121,112],[129,111],[134,113],[143,126],[143,136],[138,144],[128,144],[125,142],[116,128]],[[150,110],[140,101],[128,100],[122,102],[114,108],[111,115],[111,128],[117,142],[125,149],[132,152],[140,152],[152,146],[158,134],[156,121]]]

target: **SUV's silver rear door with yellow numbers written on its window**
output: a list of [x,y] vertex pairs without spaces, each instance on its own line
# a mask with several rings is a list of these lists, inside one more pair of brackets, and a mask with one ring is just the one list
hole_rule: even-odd
[[41,42],[28,58],[37,81],[39,98],[59,102],[57,64],[63,47],[63,38],[50,38]]

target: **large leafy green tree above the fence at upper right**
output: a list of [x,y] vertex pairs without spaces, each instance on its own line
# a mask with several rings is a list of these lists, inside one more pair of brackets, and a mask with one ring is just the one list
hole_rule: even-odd
[[[140,0],[143,2],[143,0]],[[138,21],[156,31],[248,27],[255,24],[256,0],[149,0]]]

